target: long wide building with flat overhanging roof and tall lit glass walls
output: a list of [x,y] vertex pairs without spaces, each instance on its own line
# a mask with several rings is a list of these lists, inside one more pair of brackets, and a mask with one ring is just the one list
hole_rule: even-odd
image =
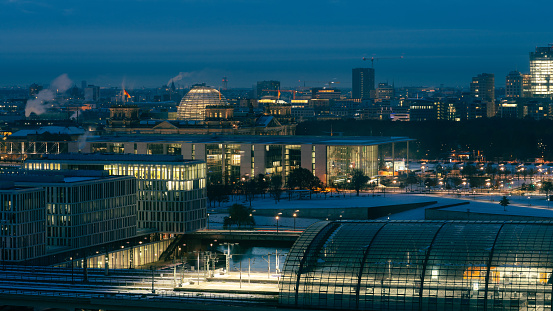
[[226,183],[259,174],[279,174],[286,180],[293,169],[303,167],[331,184],[347,178],[353,169],[376,176],[379,146],[391,145],[394,150],[395,144],[407,144],[402,157],[408,158],[409,141],[407,137],[363,136],[103,136],[88,139],[82,152],[136,150],[138,154],[180,155],[181,159],[205,161],[201,165],[207,165],[207,177]]

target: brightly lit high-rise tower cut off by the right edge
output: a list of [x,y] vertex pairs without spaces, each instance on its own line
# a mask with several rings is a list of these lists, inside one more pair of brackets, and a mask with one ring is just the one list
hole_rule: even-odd
[[553,45],[530,52],[530,76],[533,97],[553,97]]

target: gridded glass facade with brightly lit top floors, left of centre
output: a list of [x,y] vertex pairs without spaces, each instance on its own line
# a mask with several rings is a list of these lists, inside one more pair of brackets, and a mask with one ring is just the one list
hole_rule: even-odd
[[206,226],[206,164],[200,161],[147,162],[115,158],[93,161],[83,155],[82,160],[62,157],[59,160],[27,161],[25,168],[105,170],[110,175],[135,176],[138,179],[139,229],[184,233]]

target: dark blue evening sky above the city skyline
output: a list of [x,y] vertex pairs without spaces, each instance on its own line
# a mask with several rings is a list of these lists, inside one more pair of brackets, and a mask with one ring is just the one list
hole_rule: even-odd
[[[0,86],[60,74],[102,86],[207,82],[351,85],[363,56],[377,82],[496,85],[553,43],[553,1],[0,0]],[[301,80],[301,82],[299,82]]]

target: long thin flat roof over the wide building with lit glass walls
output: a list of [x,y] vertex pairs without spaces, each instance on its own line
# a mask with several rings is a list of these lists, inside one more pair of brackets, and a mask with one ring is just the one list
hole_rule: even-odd
[[94,136],[89,143],[141,142],[141,143],[236,143],[236,144],[312,144],[337,146],[370,146],[415,141],[403,136],[262,136],[262,135],[125,135]]

